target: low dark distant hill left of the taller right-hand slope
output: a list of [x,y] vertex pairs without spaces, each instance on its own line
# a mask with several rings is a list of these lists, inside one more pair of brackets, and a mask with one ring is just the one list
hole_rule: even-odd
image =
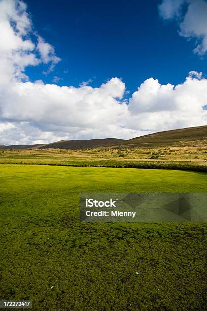
[[60,140],[51,144],[40,146],[41,149],[60,148],[60,149],[86,149],[96,147],[107,147],[117,143],[125,142],[124,139],[104,138],[89,140]]

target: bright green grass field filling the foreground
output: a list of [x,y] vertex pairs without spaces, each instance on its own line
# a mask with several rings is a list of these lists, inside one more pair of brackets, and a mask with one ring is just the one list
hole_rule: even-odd
[[1,300],[30,299],[34,310],[207,308],[206,225],[79,221],[80,192],[206,192],[205,173],[1,165],[0,182]]

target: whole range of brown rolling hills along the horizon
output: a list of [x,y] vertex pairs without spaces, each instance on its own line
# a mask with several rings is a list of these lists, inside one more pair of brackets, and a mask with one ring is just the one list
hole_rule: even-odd
[[117,138],[89,140],[60,140],[42,145],[0,145],[0,149],[86,149],[86,148],[151,148],[164,146],[207,146],[207,126],[163,131],[135,137],[129,140]]

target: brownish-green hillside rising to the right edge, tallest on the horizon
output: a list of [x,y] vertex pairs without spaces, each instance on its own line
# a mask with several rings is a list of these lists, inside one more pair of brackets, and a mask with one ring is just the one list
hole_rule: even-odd
[[158,132],[129,139],[125,147],[207,145],[207,126]]

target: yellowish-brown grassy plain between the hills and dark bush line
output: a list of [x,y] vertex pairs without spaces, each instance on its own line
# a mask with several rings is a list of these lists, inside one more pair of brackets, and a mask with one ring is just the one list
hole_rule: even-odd
[[0,150],[0,163],[184,163],[207,165],[206,147]]

